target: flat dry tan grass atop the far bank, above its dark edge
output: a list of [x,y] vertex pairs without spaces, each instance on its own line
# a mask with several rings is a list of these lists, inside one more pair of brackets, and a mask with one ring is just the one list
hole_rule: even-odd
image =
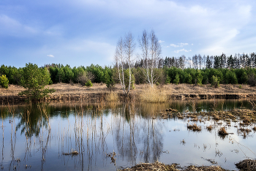
[[[108,93],[109,89],[104,83],[94,83],[94,86],[91,88],[86,88],[80,86],[79,84],[67,83],[57,83],[50,86],[45,86],[46,88],[54,88],[56,92],[54,94],[92,94],[92,93]],[[131,94],[142,94],[145,91],[148,91],[148,85],[140,84],[135,85],[135,89],[130,91]],[[155,88],[154,88],[155,89]],[[9,85],[9,88],[0,88],[0,96],[16,96],[20,91],[23,91],[24,88],[16,85]],[[116,93],[122,93],[121,86],[116,84],[114,91]],[[238,88],[238,85],[220,85],[219,88],[212,88],[210,84],[203,86],[194,86],[189,84],[168,84],[157,86],[157,94],[165,94],[164,98],[170,95],[182,95],[182,94],[256,94],[256,87],[251,87],[248,85],[243,85],[243,88]],[[157,98],[157,97],[154,97]],[[146,98],[147,99],[147,98]],[[154,100],[153,100],[154,101]],[[161,100],[160,100],[161,101]]]

